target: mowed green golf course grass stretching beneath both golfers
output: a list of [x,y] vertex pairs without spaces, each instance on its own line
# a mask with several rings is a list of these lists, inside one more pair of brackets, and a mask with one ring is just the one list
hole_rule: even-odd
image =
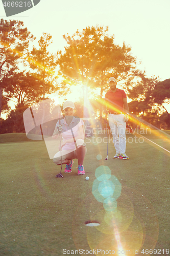
[[[170,151],[169,132],[166,133],[163,137],[153,132],[142,136]],[[93,245],[99,248],[98,240],[102,236],[109,250],[109,239],[115,238],[115,233],[110,235],[85,226],[91,219],[90,212],[93,220],[101,221],[103,204],[92,195],[95,169],[101,165],[107,165],[122,184],[117,205],[121,205],[121,209],[133,208],[119,233],[122,248],[130,248],[131,255],[135,246],[139,246],[138,255],[147,255],[140,252],[143,248],[157,248],[155,255],[166,255],[165,250],[170,249],[170,153],[150,141],[143,141],[139,133],[136,141],[135,134],[128,134],[126,153],[130,159],[112,159],[115,150],[110,141],[106,161],[103,142],[106,135],[97,136],[99,143],[95,143],[95,138],[86,139],[86,175],[77,175],[75,160],[71,174],[64,174],[64,165],[64,178],[56,178],[60,166],[48,157],[44,141],[30,141],[25,134],[0,135],[1,256],[55,256],[63,255],[63,249],[90,250]],[[102,159],[98,160],[97,155]],[[90,177],[88,181],[86,176]],[[122,223],[123,216],[122,212]]]

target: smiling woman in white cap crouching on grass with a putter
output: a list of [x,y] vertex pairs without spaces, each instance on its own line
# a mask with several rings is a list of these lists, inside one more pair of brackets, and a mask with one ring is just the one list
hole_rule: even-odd
[[61,143],[61,148],[54,156],[54,163],[66,164],[65,173],[71,173],[71,167],[73,164],[72,159],[78,159],[78,175],[84,175],[83,161],[85,154],[87,152],[86,144],[84,142],[85,130],[84,122],[80,118],[73,116],[75,109],[75,104],[72,101],[65,101],[63,103],[63,114],[65,118],[60,120],[56,124],[56,128],[53,133],[53,139],[57,138],[61,133],[63,142]]

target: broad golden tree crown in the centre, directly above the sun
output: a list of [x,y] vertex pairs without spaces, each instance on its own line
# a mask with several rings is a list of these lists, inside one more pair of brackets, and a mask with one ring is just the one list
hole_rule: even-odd
[[82,83],[100,88],[101,96],[108,88],[108,77],[126,79],[135,70],[136,60],[131,47],[114,44],[114,35],[107,34],[108,27],[86,27],[71,37],[63,35],[67,42],[65,52],[58,51],[60,74],[67,83]]

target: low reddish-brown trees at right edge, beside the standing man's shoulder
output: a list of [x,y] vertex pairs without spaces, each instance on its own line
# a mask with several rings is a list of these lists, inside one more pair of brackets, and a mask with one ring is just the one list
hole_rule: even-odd
[[163,103],[169,102],[169,89],[170,79],[160,82],[158,77],[149,78],[145,72],[139,72],[136,82],[128,81],[128,97],[132,99],[129,111],[157,127],[165,127],[166,118],[162,113],[165,110],[168,118],[170,115]]

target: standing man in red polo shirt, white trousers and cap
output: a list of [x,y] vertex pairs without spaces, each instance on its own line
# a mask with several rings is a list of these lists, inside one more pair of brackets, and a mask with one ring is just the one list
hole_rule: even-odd
[[116,88],[116,79],[109,78],[110,90],[105,94],[103,109],[108,113],[109,126],[113,135],[115,159],[129,159],[126,155],[126,122],[129,120],[127,96]]

